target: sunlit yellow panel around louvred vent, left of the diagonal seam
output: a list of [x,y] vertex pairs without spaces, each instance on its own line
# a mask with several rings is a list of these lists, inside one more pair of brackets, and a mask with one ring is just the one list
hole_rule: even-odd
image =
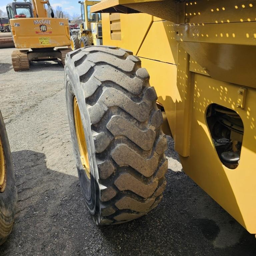
[[[103,44],[129,49],[136,54],[153,21],[153,16],[142,13],[120,14],[120,20],[121,38],[120,35],[111,34],[110,15],[108,13],[102,14]],[[115,38],[116,40],[114,40]]]

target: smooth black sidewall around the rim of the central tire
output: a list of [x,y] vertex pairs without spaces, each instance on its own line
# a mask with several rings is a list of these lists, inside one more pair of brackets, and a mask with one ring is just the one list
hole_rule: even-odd
[[[74,72],[73,72],[74,74]],[[78,81],[77,81],[78,78]],[[97,163],[95,158],[95,147],[93,143],[93,136],[91,132],[91,124],[89,113],[85,105],[85,98],[80,86],[79,77],[72,77],[69,72],[69,67],[65,67],[65,87],[66,87],[66,105],[68,112],[68,120],[70,125],[70,134],[73,144],[73,151],[76,159],[76,166],[80,181],[80,186],[82,190],[83,197],[87,204],[87,207],[92,215],[95,215],[99,207],[97,205],[96,193],[99,193],[97,180]],[[89,156],[91,180],[88,179],[84,168],[80,160],[80,151],[76,137],[75,123],[74,123],[74,113],[73,113],[73,100],[76,96],[78,101],[78,106],[80,110],[81,119],[83,122],[84,133],[87,143],[87,150]],[[95,175],[96,174],[96,175]],[[96,177],[95,177],[96,176]],[[96,180],[95,180],[96,179]]]

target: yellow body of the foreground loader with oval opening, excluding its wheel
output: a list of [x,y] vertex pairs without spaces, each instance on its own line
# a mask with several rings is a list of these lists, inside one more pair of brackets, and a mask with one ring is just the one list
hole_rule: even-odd
[[[132,50],[148,70],[183,170],[256,233],[256,1],[105,0],[92,11],[103,12],[103,44]],[[222,120],[235,166],[213,138],[209,120],[223,115],[243,128]]]

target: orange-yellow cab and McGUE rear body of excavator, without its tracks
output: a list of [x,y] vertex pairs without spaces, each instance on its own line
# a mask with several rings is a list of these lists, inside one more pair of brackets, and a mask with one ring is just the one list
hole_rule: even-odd
[[[10,17],[11,31],[16,48],[52,48],[70,46],[70,34],[68,20],[62,18],[48,18],[45,4],[49,1],[32,0],[29,2],[14,2],[22,4],[22,8],[17,8],[9,4],[7,6]],[[14,15],[19,11],[19,14]],[[32,8],[32,10],[30,10]],[[33,17],[34,16],[34,17]]]

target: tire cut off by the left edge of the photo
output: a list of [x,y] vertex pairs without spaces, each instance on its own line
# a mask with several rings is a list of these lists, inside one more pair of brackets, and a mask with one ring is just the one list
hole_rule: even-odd
[[[4,168],[3,165],[4,164]],[[14,179],[10,146],[0,112],[0,245],[10,235],[17,204],[17,190]],[[4,170],[4,171],[3,171]],[[1,174],[5,173],[1,180]],[[3,182],[4,180],[4,182]]]

